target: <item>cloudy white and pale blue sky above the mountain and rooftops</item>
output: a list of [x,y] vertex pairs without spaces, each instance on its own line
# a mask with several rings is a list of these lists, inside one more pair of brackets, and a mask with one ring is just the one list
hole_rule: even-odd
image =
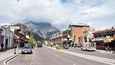
[[0,0],[0,24],[29,20],[62,30],[79,23],[105,29],[115,26],[115,0]]

